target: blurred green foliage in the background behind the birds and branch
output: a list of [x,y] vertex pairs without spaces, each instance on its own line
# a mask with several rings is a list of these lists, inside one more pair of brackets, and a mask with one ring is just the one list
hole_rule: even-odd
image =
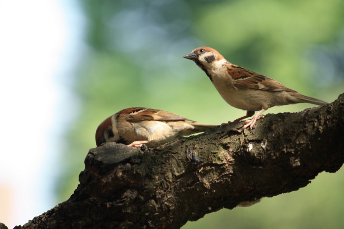
[[[80,0],[88,45],[74,89],[80,115],[68,146],[57,193],[74,191],[83,159],[95,147],[97,126],[134,106],[163,109],[200,123],[224,123],[245,114],[224,102],[190,60],[209,46],[230,62],[270,76],[327,102],[344,89],[344,1],[341,0]],[[311,104],[273,107],[301,111]],[[324,144],[326,144],[324,142]],[[342,228],[343,169],[320,174],[297,192],[248,208],[208,214],[183,228]]]

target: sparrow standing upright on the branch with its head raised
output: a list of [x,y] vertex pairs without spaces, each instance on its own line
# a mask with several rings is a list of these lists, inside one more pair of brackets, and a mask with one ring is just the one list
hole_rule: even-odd
[[[276,80],[257,74],[227,61],[218,51],[209,47],[200,47],[183,56],[193,60],[205,72],[220,93],[231,106],[247,110],[245,116],[234,120],[239,122],[259,111],[251,120],[245,121],[243,128],[252,127],[268,108],[300,102],[326,105],[327,102],[285,87]],[[229,122],[230,123],[230,122]]]

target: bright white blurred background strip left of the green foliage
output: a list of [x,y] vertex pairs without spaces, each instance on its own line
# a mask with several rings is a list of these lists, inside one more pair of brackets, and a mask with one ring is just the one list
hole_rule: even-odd
[[56,140],[72,113],[63,84],[80,33],[73,3],[0,1],[0,222],[8,228],[57,204]]

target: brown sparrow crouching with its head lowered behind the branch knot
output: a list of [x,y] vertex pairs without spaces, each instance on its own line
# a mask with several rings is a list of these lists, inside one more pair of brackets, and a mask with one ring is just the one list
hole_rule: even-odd
[[132,107],[105,119],[96,130],[95,141],[97,146],[104,142],[116,142],[131,147],[145,144],[148,148],[155,148],[179,136],[204,132],[217,126],[197,124],[164,110]]

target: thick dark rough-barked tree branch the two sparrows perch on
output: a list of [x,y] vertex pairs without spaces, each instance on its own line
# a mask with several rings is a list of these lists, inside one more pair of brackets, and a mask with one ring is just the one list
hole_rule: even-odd
[[253,130],[216,127],[157,149],[91,149],[69,200],[17,229],[180,228],[221,208],[298,190],[344,163],[344,94]]

